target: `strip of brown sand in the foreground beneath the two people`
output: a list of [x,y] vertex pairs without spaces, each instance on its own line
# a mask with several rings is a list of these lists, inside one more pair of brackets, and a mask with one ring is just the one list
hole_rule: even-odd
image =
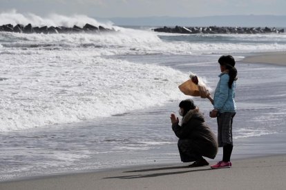
[[[0,189],[285,189],[286,155],[233,160],[233,167],[144,166],[1,182]],[[213,164],[213,163],[211,163]]]

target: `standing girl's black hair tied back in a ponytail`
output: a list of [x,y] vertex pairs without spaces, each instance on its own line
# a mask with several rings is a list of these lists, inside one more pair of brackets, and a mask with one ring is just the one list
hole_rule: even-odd
[[229,88],[231,89],[233,81],[236,80],[236,76],[238,75],[238,70],[236,70],[236,61],[233,59],[233,56],[227,55],[227,56],[220,56],[220,59],[218,59],[218,63],[220,65],[225,65],[225,68],[229,70]]

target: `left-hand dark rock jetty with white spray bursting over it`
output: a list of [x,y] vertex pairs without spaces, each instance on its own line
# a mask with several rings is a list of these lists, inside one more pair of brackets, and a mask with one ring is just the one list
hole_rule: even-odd
[[90,25],[86,23],[83,28],[80,28],[77,25],[74,25],[73,28],[68,28],[64,26],[35,26],[33,27],[32,24],[28,25],[12,25],[12,24],[6,24],[6,25],[0,25],[0,32],[17,32],[17,33],[25,33],[25,34],[61,34],[61,33],[94,33],[94,32],[113,32],[115,31],[113,28],[104,28],[103,26],[99,25],[99,27],[96,27],[94,25]]

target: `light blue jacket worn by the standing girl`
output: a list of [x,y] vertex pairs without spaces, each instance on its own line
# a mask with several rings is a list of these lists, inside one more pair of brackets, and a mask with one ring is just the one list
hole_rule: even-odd
[[220,81],[216,86],[216,91],[213,97],[213,107],[218,109],[218,112],[236,112],[236,81],[233,81],[231,89],[229,89],[229,74],[221,73]]

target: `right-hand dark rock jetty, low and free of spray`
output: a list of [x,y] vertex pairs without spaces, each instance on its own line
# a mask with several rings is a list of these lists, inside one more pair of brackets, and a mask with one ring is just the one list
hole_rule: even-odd
[[283,33],[284,29],[276,28],[244,28],[244,27],[181,27],[175,26],[170,28],[164,26],[163,28],[153,29],[155,32],[167,32],[167,33],[180,33],[180,34],[263,34],[263,33]]

